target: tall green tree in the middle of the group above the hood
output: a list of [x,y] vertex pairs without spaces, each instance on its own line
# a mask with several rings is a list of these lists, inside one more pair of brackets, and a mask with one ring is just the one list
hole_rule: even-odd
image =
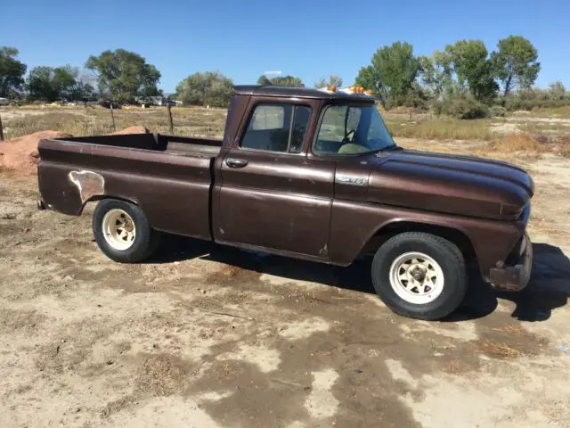
[[447,45],[452,70],[461,87],[468,87],[477,101],[491,102],[499,86],[494,80],[493,64],[488,58],[487,48],[481,40],[460,40]]

